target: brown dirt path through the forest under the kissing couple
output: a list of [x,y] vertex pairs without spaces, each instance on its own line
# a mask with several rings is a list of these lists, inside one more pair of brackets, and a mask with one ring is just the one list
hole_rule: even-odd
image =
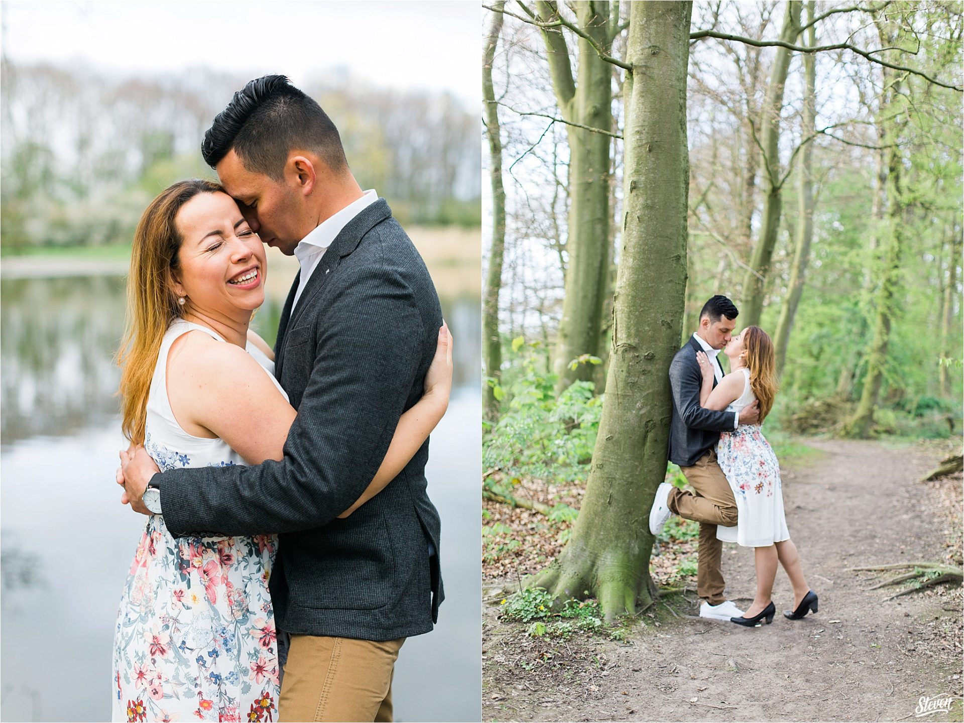
[[[922,696],[960,696],[959,590],[881,603],[892,593],[865,591],[846,572],[944,557],[953,522],[933,514],[941,492],[915,482],[934,452],[812,445],[824,456],[785,472],[784,495],[817,615],[790,622],[778,612],[770,626],[740,629],[688,617],[694,604],[661,624],[644,616],[649,625],[626,641],[545,641],[487,604],[483,720],[897,721],[916,719]],[[752,552],[727,546],[723,565],[728,594],[745,606]],[[782,571],[773,597],[778,610],[792,601]],[[961,702],[922,719],[961,720]]]

